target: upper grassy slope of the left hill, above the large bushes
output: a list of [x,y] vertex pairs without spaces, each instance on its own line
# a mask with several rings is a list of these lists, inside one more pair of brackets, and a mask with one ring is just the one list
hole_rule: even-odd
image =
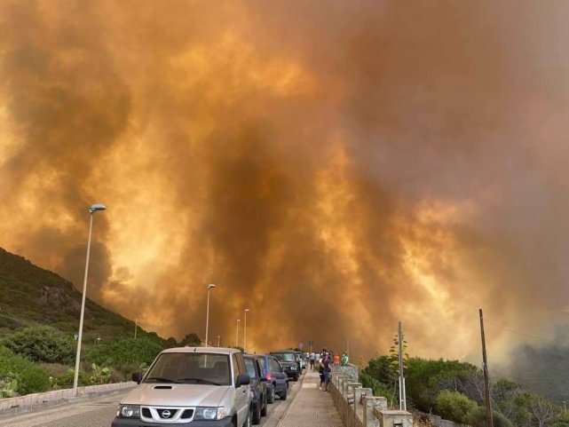
[[[48,324],[73,335],[79,328],[80,312],[81,292],[70,281],[0,248],[0,337],[13,329],[38,324]],[[94,343],[97,337],[101,340],[132,337],[134,326],[133,320],[86,300],[83,323],[86,344]],[[137,336],[165,343],[155,333],[141,328]]]

